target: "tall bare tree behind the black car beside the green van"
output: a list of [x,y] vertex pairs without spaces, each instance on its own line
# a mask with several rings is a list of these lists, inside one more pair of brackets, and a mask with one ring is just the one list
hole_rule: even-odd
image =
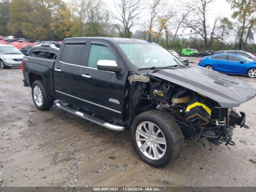
[[191,11],[192,19],[186,19],[184,21],[184,27],[192,29],[196,34],[200,35],[204,39],[204,47],[208,49],[208,26],[206,17],[208,13],[208,6],[214,0],[192,0],[186,2],[186,8]]

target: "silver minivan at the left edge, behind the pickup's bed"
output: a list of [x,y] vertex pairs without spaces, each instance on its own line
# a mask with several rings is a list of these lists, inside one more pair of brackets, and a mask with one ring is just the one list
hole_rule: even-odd
[[0,44],[0,68],[21,66],[24,54],[12,45]]

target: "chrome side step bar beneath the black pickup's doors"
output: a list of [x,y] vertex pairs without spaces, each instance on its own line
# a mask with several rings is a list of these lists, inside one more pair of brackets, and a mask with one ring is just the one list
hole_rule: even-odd
[[61,104],[60,102],[57,102],[57,103],[56,103],[56,106],[57,106],[58,108],[60,108],[60,109],[65,110],[66,112],[72,113],[72,114],[74,114],[74,115],[76,115],[76,116],[78,116],[78,117],[84,118],[85,120],[91,121],[91,122],[93,122],[93,123],[95,123],[95,124],[98,124],[98,125],[100,125],[100,126],[103,126],[103,127],[105,127],[105,128],[108,128],[108,129],[110,129],[110,130],[114,130],[114,131],[124,131],[124,126],[118,126],[118,125],[114,125],[114,124],[111,124],[111,123],[107,123],[107,122],[102,121],[102,120],[100,120],[100,119],[98,119],[98,118],[95,118],[95,117],[93,117],[93,116],[90,116],[90,115],[88,115],[88,114],[86,114],[86,113],[83,113],[83,112],[80,112],[80,111],[78,111],[78,110],[74,110],[74,109],[72,109],[72,108],[70,108],[70,107],[68,107],[68,106],[65,106],[65,105]]

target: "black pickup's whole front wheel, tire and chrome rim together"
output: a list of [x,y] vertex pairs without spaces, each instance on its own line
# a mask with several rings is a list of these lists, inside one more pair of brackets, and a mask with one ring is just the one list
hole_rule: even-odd
[[132,122],[132,144],[138,156],[154,167],[174,162],[183,148],[179,125],[164,112],[147,111]]

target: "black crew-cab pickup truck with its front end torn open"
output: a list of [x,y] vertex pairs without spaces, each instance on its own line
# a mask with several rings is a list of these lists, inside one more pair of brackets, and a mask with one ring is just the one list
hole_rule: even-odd
[[[145,40],[67,38],[56,60],[25,56],[24,85],[39,110],[56,106],[116,131],[131,130],[137,154],[156,167],[174,162],[184,139],[234,145],[239,106],[256,90],[239,79],[184,66]],[[206,138],[206,139],[203,139]]]

